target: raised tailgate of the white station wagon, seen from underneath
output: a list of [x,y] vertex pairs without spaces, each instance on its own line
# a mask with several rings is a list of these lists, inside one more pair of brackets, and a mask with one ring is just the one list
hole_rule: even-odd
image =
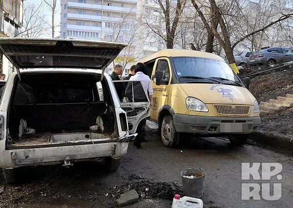
[[0,49],[19,69],[101,69],[117,57],[124,44],[72,39],[0,38]]

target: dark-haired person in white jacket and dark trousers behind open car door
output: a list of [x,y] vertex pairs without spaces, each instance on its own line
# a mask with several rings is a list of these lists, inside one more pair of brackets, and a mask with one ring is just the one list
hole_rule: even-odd
[[[131,76],[129,81],[141,81],[142,83],[142,87],[145,91],[145,93],[148,95],[149,100],[151,102],[152,100],[152,95],[153,95],[153,89],[152,89],[152,85],[151,85],[151,81],[149,76],[147,76],[146,73],[146,69],[143,63],[137,63],[137,65],[135,66],[134,69],[135,75]],[[134,92],[135,93],[135,92]],[[137,100],[138,102],[146,102],[147,99],[140,99]],[[151,105],[151,104],[150,104]],[[143,119],[137,126],[137,130],[136,133],[138,134],[137,137],[134,139],[133,144],[137,147],[137,148],[141,148],[141,142],[144,139],[143,138],[143,126],[146,123],[146,118]]]

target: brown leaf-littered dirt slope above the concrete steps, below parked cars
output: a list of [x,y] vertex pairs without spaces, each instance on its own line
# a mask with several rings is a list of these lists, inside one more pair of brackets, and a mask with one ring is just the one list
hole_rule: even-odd
[[293,94],[293,68],[252,78],[250,92],[258,102]]

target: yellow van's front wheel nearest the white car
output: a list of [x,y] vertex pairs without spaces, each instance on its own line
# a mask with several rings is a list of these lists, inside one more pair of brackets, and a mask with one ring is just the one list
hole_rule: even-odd
[[166,116],[162,122],[161,138],[166,147],[176,147],[179,142],[179,133],[176,132],[172,116]]

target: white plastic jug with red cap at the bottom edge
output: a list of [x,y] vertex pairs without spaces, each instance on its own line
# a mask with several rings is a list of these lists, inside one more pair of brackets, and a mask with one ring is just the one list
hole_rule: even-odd
[[203,208],[204,204],[201,199],[192,198],[189,196],[180,197],[179,194],[175,194],[172,208]]

